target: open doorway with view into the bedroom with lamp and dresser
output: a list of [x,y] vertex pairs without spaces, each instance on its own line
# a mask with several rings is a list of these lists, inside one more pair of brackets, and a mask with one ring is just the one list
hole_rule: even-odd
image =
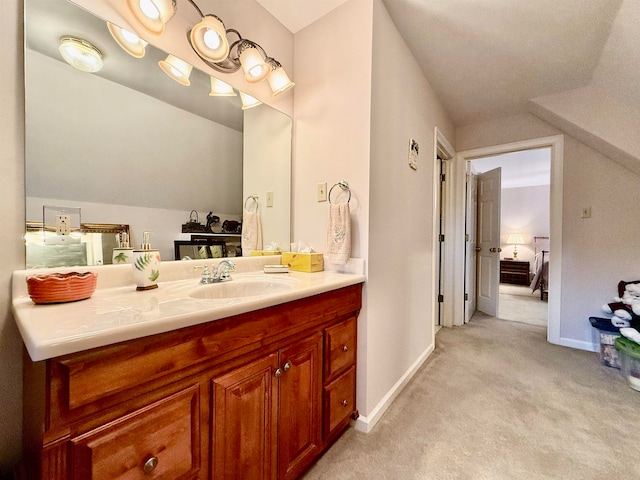
[[[532,286],[532,280],[551,258],[551,150],[528,149],[468,163],[472,178],[480,184],[475,248],[478,310],[502,320],[546,327],[548,305],[541,294],[545,289],[540,282]],[[497,193],[489,188],[494,184],[500,189]],[[497,206],[490,202],[495,198],[499,199]],[[472,214],[468,211],[467,216]],[[492,225],[494,217],[498,225]],[[498,236],[497,241],[491,234]],[[470,310],[467,317],[474,313]]]

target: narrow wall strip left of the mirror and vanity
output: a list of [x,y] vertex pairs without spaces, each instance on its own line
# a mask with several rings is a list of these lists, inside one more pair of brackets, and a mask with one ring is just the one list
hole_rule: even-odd
[[11,316],[11,272],[24,268],[24,90],[22,2],[0,15],[0,477],[20,456],[22,339]]

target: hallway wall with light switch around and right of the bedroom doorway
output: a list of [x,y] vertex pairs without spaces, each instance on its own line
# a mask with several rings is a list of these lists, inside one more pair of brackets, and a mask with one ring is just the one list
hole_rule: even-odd
[[[533,115],[458,128],[458,151],[563,133]],[[620,280],[640,279],[639,177],[565,134],[560,336],[593,348],[589,316],[616,295]],[[581,218],[591,206],[592,217]]]

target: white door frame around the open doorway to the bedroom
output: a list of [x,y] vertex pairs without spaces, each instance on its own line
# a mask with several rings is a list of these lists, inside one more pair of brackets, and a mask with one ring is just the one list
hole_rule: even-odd
[[561,345],[560,319],[562,306],[562,192],[563,192],[563,161],[564,161],[564,135],[535,138],[520,142],[482,147],[473,150],[459,152],[452,165],[454,188],[453,195],[455,212],[452,218],[452,270],[453,270],[453,309],[454,325],[462,325],[465,318],[464,278],[466,275],[465,248],[465,222],[466,222],[466,198],[465,182],[467,162],[481,157],[501,155],[521,150],[537,148],[551,149],[551,178],[550,178],[550,205],[549,205],[549,231],[550,251],[553,252],[553,260],[549,262],[549,321],[547,325],[547,340]]

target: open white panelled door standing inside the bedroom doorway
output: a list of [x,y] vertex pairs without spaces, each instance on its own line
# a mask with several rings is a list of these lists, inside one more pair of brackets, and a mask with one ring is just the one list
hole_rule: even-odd
[[478,310],[498,314],[500,284],[500,168],[478,175]]

